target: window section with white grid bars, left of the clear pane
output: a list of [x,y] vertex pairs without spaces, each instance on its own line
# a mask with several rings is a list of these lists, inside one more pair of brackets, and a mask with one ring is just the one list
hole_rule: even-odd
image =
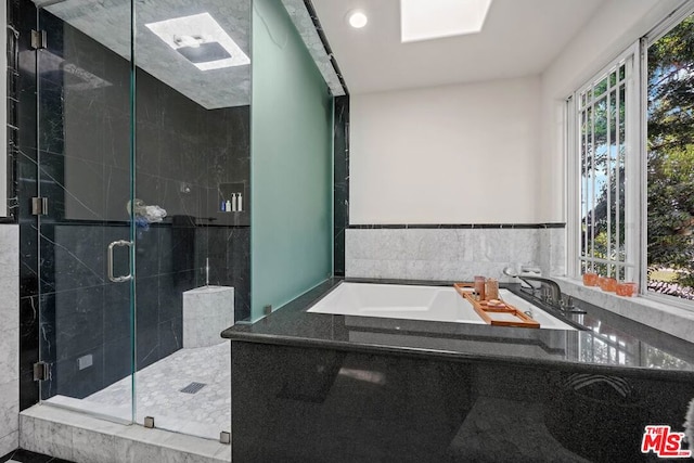
[[[615,60],[569,103],[578,184],[577,273],[633,280],[638,191],[627,181],[638,172],[635,48]],[[638,125],[638,124],[637,124]]]

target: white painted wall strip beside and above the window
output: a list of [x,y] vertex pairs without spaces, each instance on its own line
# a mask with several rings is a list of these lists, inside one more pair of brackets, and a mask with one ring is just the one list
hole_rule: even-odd
[[539,221],[566,220],[564,101],[683,0],[609,0],[541,76]]

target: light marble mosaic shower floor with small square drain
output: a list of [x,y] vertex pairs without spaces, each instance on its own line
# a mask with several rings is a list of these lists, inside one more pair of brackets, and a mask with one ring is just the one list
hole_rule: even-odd
[[[154,416],[158,428],[219,439],[231,430],[231,348],[228,340],[210,347],[180,349],[136,375],[137,422]],[[180,390],[191,383],[195,394]],[[130,377],[81,400],[55,397],[57,404],[102,415],[130,415]]]

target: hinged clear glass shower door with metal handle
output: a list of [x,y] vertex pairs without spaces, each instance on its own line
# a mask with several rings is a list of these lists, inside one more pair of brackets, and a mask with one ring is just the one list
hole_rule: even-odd
[[132,2],[36,3],[40,396],[132,422]]

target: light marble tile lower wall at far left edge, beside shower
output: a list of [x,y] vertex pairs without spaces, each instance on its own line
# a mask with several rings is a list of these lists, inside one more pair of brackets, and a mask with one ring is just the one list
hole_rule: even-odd
[[0,454],[18,446],[20,228],[0,226]]

